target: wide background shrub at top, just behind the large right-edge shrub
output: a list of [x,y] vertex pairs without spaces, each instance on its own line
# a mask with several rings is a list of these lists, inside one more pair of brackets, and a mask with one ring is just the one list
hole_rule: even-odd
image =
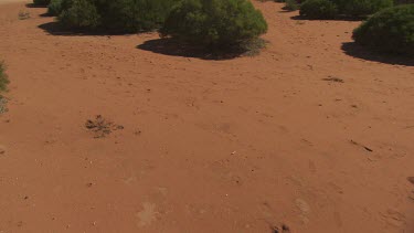
[[394,4],[393,0],[332,0],[347,15],[369,15]]

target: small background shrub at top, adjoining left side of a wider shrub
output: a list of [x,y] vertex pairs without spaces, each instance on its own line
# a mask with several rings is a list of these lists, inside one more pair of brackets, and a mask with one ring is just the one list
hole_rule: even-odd
[[307,0],[300,4],[299,14],[308,19],[333,19],[338,13],[337,6],[329,0]]

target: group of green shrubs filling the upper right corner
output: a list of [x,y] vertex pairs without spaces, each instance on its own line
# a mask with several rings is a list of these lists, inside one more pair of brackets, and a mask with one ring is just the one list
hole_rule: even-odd
[[[300,9],[307,19],[367,17],[353,32],[371,50],[414,56],[414,0],[282,0],[286,10]],[[393,7],[396,4],[397,7]],[[376,13],[375,13],[376,12]]]

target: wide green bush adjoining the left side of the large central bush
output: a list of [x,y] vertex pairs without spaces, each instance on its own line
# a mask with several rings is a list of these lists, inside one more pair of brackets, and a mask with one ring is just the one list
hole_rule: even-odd
[[67,27],[138,32],[162,25],[177,0],[63,0],[59,21]]

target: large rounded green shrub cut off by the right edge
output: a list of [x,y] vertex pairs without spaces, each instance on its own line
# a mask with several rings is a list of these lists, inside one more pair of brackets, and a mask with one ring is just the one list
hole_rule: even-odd
[[353,31],[353,39],[372,50],[414,56],[414,4],[375,13]]

